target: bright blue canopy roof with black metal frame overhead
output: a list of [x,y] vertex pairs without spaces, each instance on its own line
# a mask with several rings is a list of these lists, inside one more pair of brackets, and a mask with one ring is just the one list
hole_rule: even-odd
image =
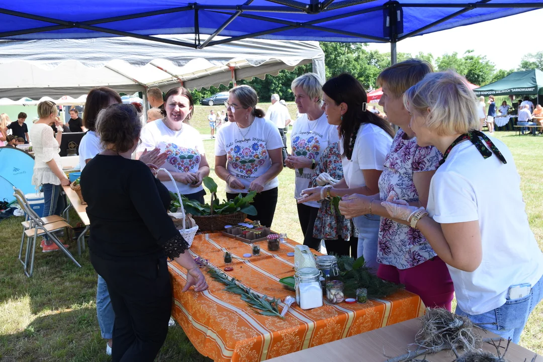
[[389,42],[395,62],[396,42],[408,37],[538,8],[543,0],[0,0],[0,39],[131,36],[200,49],[250,37]]

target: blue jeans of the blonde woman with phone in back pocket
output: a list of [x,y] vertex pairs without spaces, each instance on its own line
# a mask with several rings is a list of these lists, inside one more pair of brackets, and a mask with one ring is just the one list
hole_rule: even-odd
[[470,315],[456,306],[454,313],[468,317],[479,327],[496,333],[504,339],[519,343],[522,329],[535,306],[543,299],[543,277],[533,287],[529,295],[519,299],[507,300],[503,306],[487,313]]

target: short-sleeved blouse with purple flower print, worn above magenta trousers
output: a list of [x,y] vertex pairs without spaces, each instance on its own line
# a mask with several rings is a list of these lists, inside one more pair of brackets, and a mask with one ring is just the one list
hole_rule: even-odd
[[[381,200],[394,191],[397,198],[407,202],[418,201],[419,194],[413,183],[413,174],[433,171],[439,166],[441,153],[433,146],[419,147],[416,137],[403,139],[400,129],[392,141],[390,152],[384,161],[379,177]],[[377,242],[377,262],[408,269],[435,257],[432,247],[419,230],[381,218]]]

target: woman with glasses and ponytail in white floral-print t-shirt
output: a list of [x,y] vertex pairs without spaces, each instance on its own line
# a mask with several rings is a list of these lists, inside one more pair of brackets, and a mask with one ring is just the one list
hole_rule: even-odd
[[252,205],[262,225],[271,226],[277,204],[277,175],[283,169],[283,141],[275,124],[256,108],[258,96],[247,85],[230,90],[224,103],[229,122],[217,132],[215,173],[226,181],[226,197],[256,191]]

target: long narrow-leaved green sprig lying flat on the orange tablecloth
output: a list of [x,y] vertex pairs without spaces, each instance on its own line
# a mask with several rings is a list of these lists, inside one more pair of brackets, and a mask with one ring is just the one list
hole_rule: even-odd
[[217,269],[209,268],[207,273],[217,282],[226,285],[225,290],[230,291],[230,293],[239,294],[241,299],[252,308],[255,308],[258,313],[284,319],[284,317],[281,316],[281,313],[279,313],[279,299],[271,298],[267,295],[258,296],[251,291],[251,288],[246,288],[238,283],[236,278],[229,278],[228,275]]

